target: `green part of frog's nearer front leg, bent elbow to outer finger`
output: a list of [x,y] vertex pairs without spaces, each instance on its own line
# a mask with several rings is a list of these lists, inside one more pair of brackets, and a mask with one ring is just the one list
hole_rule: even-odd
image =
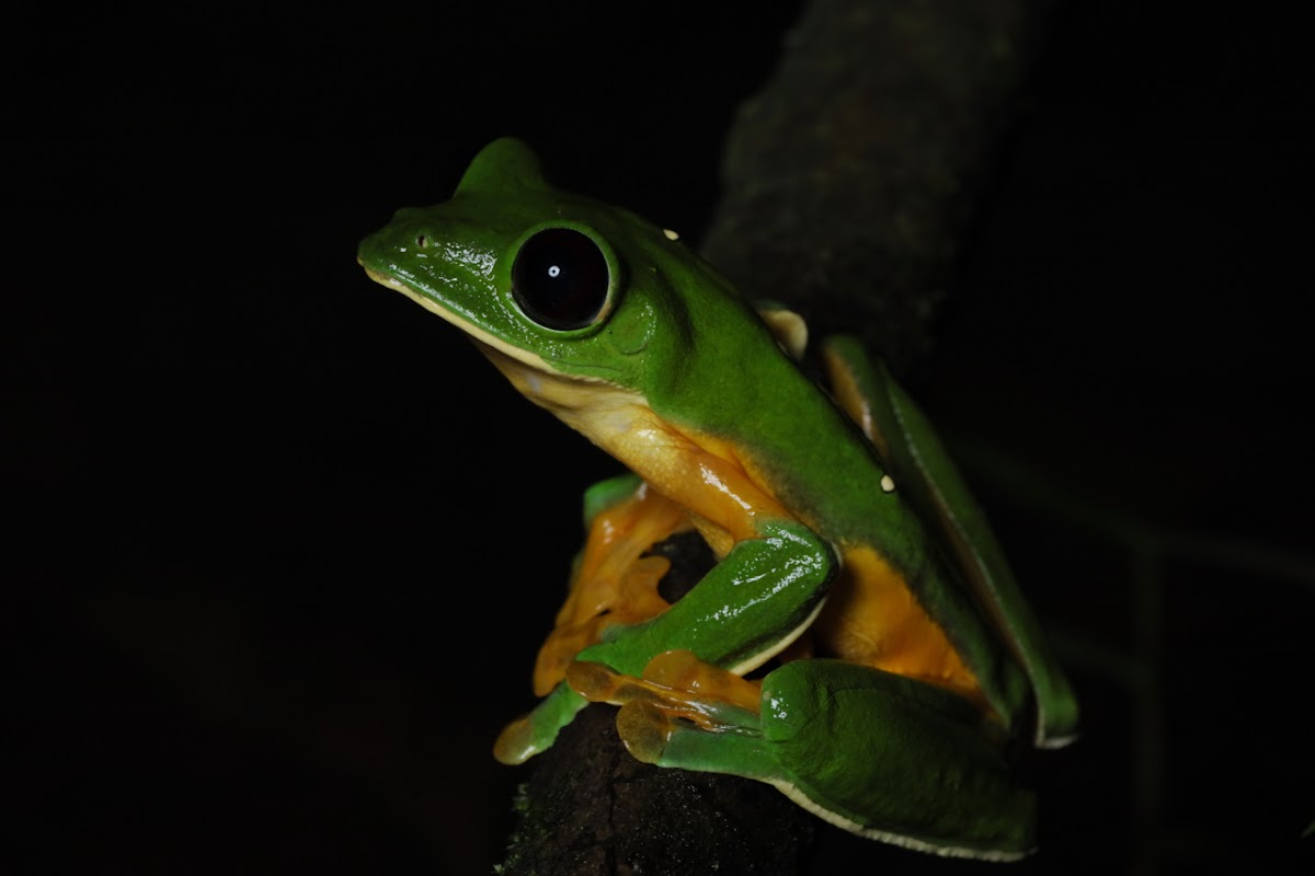
[[[793,520],[764,520],[759,537],[730,553],[675,605],[652,620],[614,626],[579,661],[639,676],[669,650],[686,650],[734,674],[747,672],[793,642],[822,608],[834,577],[830,545]],[[588,700],[563,682],[523,718],[502,730],[494,756],[521,763],[546,750]]]

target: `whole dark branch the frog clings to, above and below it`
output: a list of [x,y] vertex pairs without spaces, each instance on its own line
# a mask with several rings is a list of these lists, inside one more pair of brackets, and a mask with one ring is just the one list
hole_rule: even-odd
[[[815,0],[740,112],[704,252],[897,372],[932,347],[980,181],[1048,4]],[[668,545],[675,587],[698,548]],[[667,582],[672,584],[672,582]],[[765,784],[634,760],[593,705],[537,759],[502,873],[807,872],[821,822]]]

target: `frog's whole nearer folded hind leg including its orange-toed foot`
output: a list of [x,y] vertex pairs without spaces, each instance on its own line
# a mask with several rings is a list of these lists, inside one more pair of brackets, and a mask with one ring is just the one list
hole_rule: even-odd
[[568,678],[622,707],[617,728],[640,760],[765,781],[846,830],[923,851],[1032,850],[1032,795],[953,693],[832,659],[786,663],[760,686],[688,663],[663,655],[643,679],[576,663]]

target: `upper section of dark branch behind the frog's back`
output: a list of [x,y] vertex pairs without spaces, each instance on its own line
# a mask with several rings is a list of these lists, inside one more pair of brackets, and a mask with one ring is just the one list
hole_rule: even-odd
[[814,0],[730,131],[704,255],[915,366],[1052,5]]

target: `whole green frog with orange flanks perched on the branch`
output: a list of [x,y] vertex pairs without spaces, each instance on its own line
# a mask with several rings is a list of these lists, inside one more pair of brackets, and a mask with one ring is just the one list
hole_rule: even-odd
[[[554,188],[513,138],[358,259],[629,469],[585,494],[542,700],[498,759],[606,701],[642,760],[769,783],[911,848],[1032,850],[1006,747],[1068,741],[1076,700],[932,427],[855,340],[821,344],[823,386],[798,317],[751,306],[676,234]],[[668,604],[648,549],[688,529],[715,563]]]

